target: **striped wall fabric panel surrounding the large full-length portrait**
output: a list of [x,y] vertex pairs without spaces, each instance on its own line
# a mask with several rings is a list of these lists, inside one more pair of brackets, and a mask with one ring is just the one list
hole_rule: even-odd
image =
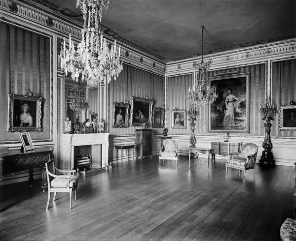
[[[209,77],[213,77],[216,74],[236,72],[236,73],[250,73],[250,133],[244,133],[244,136],[263,136],[264,127],[263,121],[259,113],[259,106],[265,100],[265,71],[266,65],[264,63],[228,68],[223,70],[210,71]],[[192,73],[180,76],[173,76],[168,78],[168,108],[173,110],[175,107],[179,109],[188,108],[188,100],[186,94],[188,88],[192,87]],[[208,107],[203,106],[198,108],[198,116],[195,121],[195,135],[207,134],[217,135],[217,133],[208,133]],[[188,119],[188,118],[187,118]],[[168,118],[169,133],[176,134],[190,134],[189,121],[187,120],[186,129],[172,129],[171,118]],[[221,134],[221,133],[220,133]],[[241,133],[231,133],[231,135],[241,136]]]

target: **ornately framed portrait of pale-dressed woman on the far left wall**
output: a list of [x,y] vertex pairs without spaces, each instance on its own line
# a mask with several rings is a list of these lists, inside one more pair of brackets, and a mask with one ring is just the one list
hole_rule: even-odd
[[42,97],[8,94],[7,131],[42,131]]

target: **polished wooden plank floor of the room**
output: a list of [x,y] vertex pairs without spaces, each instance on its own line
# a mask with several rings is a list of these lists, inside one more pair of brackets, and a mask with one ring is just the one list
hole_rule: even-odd
[[226,175],[223,160],[208,171],[202,158],[159,168],[154,156],[81,176],[72,210],[68,193],[45,210],[38,184],[0,186],[0,241],[280,240],[296,207],[293,175],[257,165],[243,180],[238,170]]

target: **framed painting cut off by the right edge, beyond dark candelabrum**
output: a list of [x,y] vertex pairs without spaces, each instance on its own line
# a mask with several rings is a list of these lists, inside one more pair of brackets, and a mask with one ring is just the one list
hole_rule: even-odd
[[296,105],[279,107],[279,130],[296,130]]

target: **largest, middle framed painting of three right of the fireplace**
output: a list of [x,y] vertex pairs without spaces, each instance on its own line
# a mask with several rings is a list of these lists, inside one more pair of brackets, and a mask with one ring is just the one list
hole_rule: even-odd
[[153,100],[132,96],[131,125],[151,125]]

